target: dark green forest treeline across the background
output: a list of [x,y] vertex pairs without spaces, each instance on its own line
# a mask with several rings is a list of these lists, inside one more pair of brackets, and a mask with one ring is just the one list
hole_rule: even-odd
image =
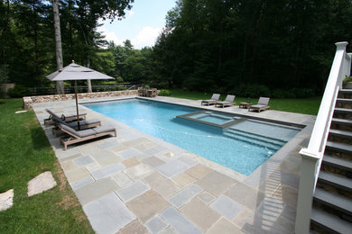
[[[98,20],[113,19],[116,9],[123,15],[133,2],[60,1],[64,66],[74,59],[116,82],[158,87],[320,94],[334,43],[352,38],[350,0],[178,0],[152,48],[105,40]],[[44,78],[56,69],[51,1],[2,0],[0,15],[0,76],[52,85]]]

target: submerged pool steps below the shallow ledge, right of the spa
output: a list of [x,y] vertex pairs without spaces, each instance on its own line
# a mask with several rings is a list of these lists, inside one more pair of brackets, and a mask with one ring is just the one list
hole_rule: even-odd
[[224,135],[232,139],[237,139],[248,144],[268,148],[274,151],[279,150],[283,147],[283,144],[286,143],[285,141],[267,139],[265,137],[259,137],[258,135],[239,130],[226,130],[224,131]]

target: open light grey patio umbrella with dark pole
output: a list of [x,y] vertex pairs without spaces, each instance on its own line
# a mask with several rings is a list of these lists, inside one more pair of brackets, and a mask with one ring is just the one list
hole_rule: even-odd
[[[77,81],[78,80],[87,80],[87,79],[114,79],[114,77],[107,76],[103,73],[100,73],[96,70],[93,70],[88,67],[80,66],[72,60],[72,63],[66,67],[63,67],[48,76],[46,78],[51,81],[75,81],[75,96],[76,96],[76,110],[77,110],[77,121],[79,126],[79,99],[77,94]],[[80,129],[80,128],[79,128]]]

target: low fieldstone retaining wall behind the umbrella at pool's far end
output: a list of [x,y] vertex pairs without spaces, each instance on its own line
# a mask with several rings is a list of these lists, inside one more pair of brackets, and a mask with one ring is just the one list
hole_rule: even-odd
[[[79,99],[97,98],[97,97],[113,97],[122,95],[137,95],[138,90],[122,90],[97,93],[79,94]],[[55,94],[42,96],[23,96],[23,108],[31,108],[32,103],[47,103],[57,101],[67,101],[75,99],[75,94]]]

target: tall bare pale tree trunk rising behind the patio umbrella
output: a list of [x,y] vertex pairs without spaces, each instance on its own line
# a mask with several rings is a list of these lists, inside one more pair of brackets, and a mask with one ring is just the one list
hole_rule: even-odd
[[[59,70],[63,67],[62,48],[61,48],[59,0],[52,0],[52,11],[54,14],[56,64],[57,64],[57,68]],[[56,93],[57,94],[64,94],[63,81],[56,82]]]

